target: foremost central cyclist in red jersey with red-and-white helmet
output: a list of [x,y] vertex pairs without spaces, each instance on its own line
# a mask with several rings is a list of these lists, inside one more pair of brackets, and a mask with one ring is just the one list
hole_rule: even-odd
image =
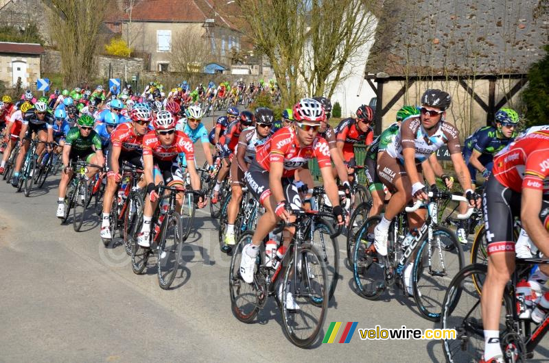
[[[256,197],[266,212],[257,221],[257,229],[252,243],[242,251],[240,275],[250,284],[259,246],[280,219],[288,221],[292,208],[301,208],[301,199],[294,185],[294,173],[309,159],[316,158],[323,177],[326,194],[334,205],[334,216],[338,223],[343,223],[343,209],[339,205],[338,186],[331,175],[331,161],[328,143],[317,136],[320,121],[325,117],[320,103],[313,99],[301,99],[294,106],[294,125],[283,127],[262,146],[257,149],[255,160],[244,175],[246,185]],[[291,240],[285,234],[284,247]],[[279,288],[279,295],[280,295]],[[299,306],[288,294],[289,305],[299,309]]]

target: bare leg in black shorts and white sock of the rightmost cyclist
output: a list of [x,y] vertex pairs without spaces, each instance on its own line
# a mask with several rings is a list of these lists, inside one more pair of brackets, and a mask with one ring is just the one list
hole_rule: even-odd
[[488,274],[482,286],[484,360],[502,354],[499,343],[500,313],[505,285],[515,270],[514,216],[520,210],[520,195],[495,178],[484,188],[484,223],[488,244]]

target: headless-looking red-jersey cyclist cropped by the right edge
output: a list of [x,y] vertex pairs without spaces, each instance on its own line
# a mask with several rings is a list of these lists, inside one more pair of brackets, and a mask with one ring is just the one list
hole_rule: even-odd
[[[515,270],[515,216],[520,216],[541,253],[549,255],[549,126],[528,129],[495,156],[483,198],[489,260],[481,295],[484,357],[480,362],[495,363],[504,362],[498,329],[503,291]],[[547,280],[549,266],[540,265],[539,270]]]

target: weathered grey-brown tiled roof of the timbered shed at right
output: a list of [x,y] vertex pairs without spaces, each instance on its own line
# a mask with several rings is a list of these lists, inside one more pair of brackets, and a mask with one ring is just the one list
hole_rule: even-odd
[[526,73],[548,44],[549,15],[539,3],[386,0],[366,73]]

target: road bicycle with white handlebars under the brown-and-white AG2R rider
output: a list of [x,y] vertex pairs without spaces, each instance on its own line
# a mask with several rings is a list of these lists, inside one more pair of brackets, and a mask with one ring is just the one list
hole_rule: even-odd
[[[417,230],[408,231],[404,214],[391,222],[388,234],[388,254],[383,257],[375,253],[373,247],[374,228],[381,221],[373,216],[366,221],[357,233],[353,247],[353,280],[358,294],[364,299],[376,300],[388,286],[397,283],[406,293],[404,271],[408,262],[413,261],[412,290],[419,311],[431,321],[439,321],[441,301],[449,278],[465,266],[463,249],[456,235],[447,227],[437,224],[437,201],[452,199],[467,201],[460,195],[449,192],[428,192],[428,214],[425,223]],[[406,207],[406,212],[419,209],[422,202]],[[467,219],[473,212],[459,214]]]

